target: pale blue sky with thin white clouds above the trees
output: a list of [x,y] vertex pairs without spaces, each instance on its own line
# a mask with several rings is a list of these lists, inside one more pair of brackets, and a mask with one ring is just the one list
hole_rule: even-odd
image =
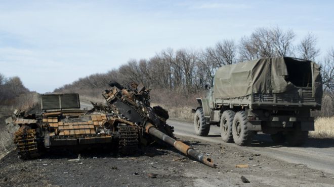
[[162,49],[239,41],[259,27],[292,29],[298,42],[334,46],[333,1],[3,1],[0,73],[52,92]]

